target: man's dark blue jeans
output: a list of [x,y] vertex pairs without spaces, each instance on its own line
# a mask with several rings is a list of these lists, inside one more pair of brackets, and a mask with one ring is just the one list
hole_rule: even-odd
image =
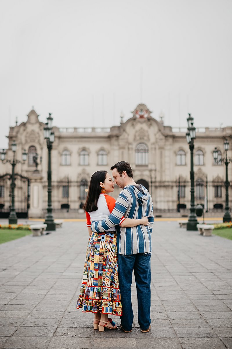
[[130,331],[133,325],[131,304],[131,283],[134,269],[138,299],[138,324],[141,329],[151,324],[151,253],[118,254],[119,289],[121,293],[122,316],[121,326]]

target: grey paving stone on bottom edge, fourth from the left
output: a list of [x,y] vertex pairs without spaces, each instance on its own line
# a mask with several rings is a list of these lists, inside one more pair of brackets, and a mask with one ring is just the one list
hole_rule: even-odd
[[160,338],[146,339],[136,338],[137,349],[182,349],[181,344],[177,338]]

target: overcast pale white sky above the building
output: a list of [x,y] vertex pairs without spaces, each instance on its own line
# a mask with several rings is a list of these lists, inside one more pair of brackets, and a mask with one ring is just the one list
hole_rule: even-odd
[[232,125],[231,0],[0,0],[0,148],[9,125]]

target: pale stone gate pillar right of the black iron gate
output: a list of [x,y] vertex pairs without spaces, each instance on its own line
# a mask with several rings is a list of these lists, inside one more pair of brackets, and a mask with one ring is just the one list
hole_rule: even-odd
[[43,212],[43,177],[39,171],[34,171],[30,177],[31,195],[30,209],[28,211],[29,218],[44,218]]

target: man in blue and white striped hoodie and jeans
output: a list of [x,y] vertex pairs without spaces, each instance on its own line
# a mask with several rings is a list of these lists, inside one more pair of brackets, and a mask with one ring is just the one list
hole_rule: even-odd
[[151,308],[151,233],[153,228],[153,204],[151,195],[142,185],[133,179],[130,164],[120,161],[111,167],[114,183],[123,188],[118,196],[111,215],[102,221],[92,222],[94,232],[106,231],[121,223],[122,217],[148,217],[149,225],[133,228],[118,227],[118,272],[121,293],[122,316],[121,328],[124,332],[132,331],[134,314],[131,304],[131,283],[134,269],[138,298],[138,324],[142,332],[150,330]]

